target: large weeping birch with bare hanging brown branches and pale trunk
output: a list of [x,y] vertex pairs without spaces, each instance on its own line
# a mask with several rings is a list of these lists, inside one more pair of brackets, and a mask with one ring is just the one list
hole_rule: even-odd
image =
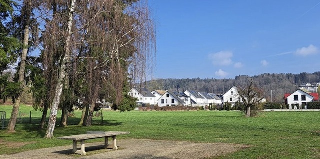
[[83,100],[89,126],[98,98],[119,105],[129,74],[145,79],[155,31],[146,0],[44,0],[42,9],[49,14],[43,16],[43,68],[54,88],[45,137],[52,138],[59,106],[64,112],[70,98]]

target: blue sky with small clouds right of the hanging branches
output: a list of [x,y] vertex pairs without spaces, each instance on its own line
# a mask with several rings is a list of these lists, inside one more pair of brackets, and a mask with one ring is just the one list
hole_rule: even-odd
[[320,71],[320,0],[149,0],[153,78]]

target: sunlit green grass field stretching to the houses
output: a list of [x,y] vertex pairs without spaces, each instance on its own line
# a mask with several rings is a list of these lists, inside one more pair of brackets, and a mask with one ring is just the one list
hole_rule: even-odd
[[[7,119],[11,109],[11,106],[0,106],[0,111],[6,111]],[[21,106],[20,111],[23,116],[17,122],[16,133],[0,130],[0,154],[71,144],[67,140],[43,138],[45,130],[37,130],[41,112],[29,106]],[[68,118],[68,127],[56,126],[54,136],[82,134],[87,130],[130,131],[131,134],[118,138],[251,145],[214,159],[320,158],[320,112],[263,112],[259,117],[245,118],[238,111],[103,111],[103,125],[101,117],[94,117],[95,125],[91,127],[76,125],[80,117],[81,112],[76,111],[75,117]],[[1,145],[1,141],[30,143],[11,148]]]

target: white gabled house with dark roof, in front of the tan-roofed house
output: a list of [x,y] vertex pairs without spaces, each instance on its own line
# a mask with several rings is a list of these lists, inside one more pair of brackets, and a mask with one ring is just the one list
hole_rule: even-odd
[[178,105],[186,105],[186,103],[180,99],[176,94],[172,91],[166,91],[157,101],[159,107],[163,106],[178,106]]

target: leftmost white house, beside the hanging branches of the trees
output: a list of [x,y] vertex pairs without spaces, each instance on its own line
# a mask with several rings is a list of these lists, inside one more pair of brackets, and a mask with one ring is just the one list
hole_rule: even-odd
[[128,94],[138,99],[138,101],[136,101],[138,105],[155,105],[155,96],[146,88],[134,87],[128,92]]

